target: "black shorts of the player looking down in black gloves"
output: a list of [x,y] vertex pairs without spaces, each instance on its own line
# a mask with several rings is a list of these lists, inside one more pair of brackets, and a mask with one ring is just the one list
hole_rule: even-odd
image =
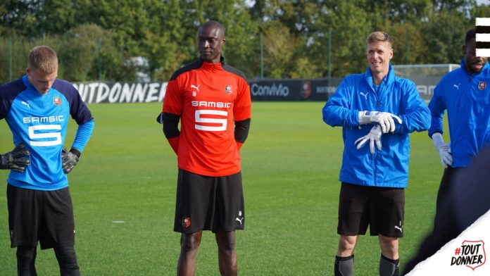
[[8,228],[11,247],[75,245],[73,204],[68,187],[55,191],[7,185]]

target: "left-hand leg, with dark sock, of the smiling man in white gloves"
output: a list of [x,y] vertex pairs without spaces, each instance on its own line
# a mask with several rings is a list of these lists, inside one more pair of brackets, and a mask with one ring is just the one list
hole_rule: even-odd
[[351,276],[354,272],[354,249],[359,236],[344,236],[339,239],[339,248],[335,256],[334,275]]

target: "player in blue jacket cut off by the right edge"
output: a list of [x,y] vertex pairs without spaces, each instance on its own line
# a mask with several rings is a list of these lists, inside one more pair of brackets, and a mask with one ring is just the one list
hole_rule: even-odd
[[[490,145],[490,64],[488,58],[476,56],[476,34],[475,29],[466,32],[465,44],[461,47],[464,56],[461,67],[442,77],[429,102],[432,115],[429,137],[439,153],[444,173],[437,192],[433,232],[422,243],[413,260],[407,263],[406,272],[436,253],[444,246],[444,241],[457,237],[453,234],[446,240],[439,239],[440,234],[447,231],[447,218],[441,208],[449,204],[445,201],[451,201],[456,172],[471,165],[473,158]],[[442,118],[446,110],[451,139],[448,144],[442,138]]]

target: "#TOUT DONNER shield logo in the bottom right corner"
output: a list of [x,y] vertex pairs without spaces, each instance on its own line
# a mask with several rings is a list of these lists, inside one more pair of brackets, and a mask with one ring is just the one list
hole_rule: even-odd
[[485,243],[482,240],[465,240],[461,244],[461,247],[456,247],[454,250],[454,256],[451,257],[451,266],[465,265],[472,270],[484,265],[485,262]]

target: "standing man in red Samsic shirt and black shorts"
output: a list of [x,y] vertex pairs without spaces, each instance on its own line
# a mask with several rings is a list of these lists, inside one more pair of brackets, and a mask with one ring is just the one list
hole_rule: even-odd
[[221,23],[199,28],[200,58],[172,75],[158,116],[178,159],[177,275],[194,275],[203,230],[215,233],[221,275],[237,275],[234,231],[245,225],[239,149],[249,134],[251,96],[244,73],[221,56],[225,42]]

